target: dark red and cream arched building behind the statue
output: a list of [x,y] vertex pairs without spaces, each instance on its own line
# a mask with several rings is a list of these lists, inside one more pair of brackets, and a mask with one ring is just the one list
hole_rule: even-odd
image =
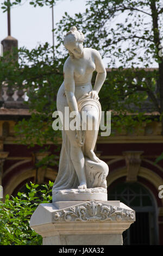
[[[56,145],[47,142],[49,151],[40,153],[38,145],[28,148],[16,143],[14,126],[22,118],[30,118],[23,100],[22,90],[12,92],[2,86],[0,185],[4,197],[6,194],[16,196],[29,181],[37,184],[54,181],[58,173],[58,166],[36,168],[44,156],[55,154]],[[122,131],[114,136],[98,137],[96,155],[109,166],[108,200],[120,200],[136,211],[136,222],[123,234],[124,244],[163,245],[163,193],[159,193],[163,186],[163,161],[155,163],[163,151],[161,123],[143,123],[141,128],[132,133]]]

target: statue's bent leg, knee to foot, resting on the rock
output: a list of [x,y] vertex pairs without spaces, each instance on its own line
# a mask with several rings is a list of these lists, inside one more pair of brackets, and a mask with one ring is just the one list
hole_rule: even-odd
[[[99,162],[100,160],[94,153],[95,144],[98,136],[99,129],[99,113],[96,107],[87,105],[82,109],[87,116],[85,142],[84,142],[84,155],[89,157],[92,161]],[[83,119],[84,121],[84,119]],[[92,126],[92,129],[91,129]],[[90,130],[91,129],[91,130]]]

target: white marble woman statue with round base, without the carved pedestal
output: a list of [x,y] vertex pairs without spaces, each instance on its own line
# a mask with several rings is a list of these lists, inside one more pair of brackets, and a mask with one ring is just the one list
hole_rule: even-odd
[[[63,117],[65,107],[69,107],[70,112],[76,111],[76,120],[80,119],[81,124],[82,113],[85,111],[86,130],[82,130],[81,126],[75,130],[65,130],[65,119],[63,120],[62,148],[59,172],[53,186],[53,202],[72,200],[74,194],[77,195],[75,200],[96,200],[96,196],[94,198],[89,195],[97,195],[99,192],[105,194],[104,198],[101,196],[101,200],[107,200],[106,176],[109,168],[93,151],[101,121],[98,93],[105,81],[106,70],[99,52],[92,48],[84,48],[83,41],[84,35],[77,31],[76,27],[71,27],[65,36],[64,45],[70,56],[64,64],[64,82],[58,91],[57,109],[62,112]],[[97,76],[92,88],[91,79],[95,70]],[[70,121],[72,119],[70,118]],[[93,120],[92,130],[88,128],[89,120]],[[78,197],[79,193],[83,193],[81,198]],[[58,197],[59,194],[63,199]]]

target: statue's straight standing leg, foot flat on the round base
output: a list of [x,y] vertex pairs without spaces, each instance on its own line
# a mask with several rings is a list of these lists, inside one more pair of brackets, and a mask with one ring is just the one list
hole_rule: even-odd
[[86,188],[86,176],[85,176],[85,168],[84,168],[84,155],[82,148],[78,146],[78,143],[76,141],[76,131],[68,130],[65,131],[71,145],[71,160],[74,166],[74,169],[76,170],[78,180],[79,180],[79,186],[78,188]]

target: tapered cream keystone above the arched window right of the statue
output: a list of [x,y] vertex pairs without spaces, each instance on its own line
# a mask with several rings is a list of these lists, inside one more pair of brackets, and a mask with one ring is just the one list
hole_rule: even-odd
[[136,182],[137,174],[141,165],[141,154],[143,151],[124,151],[123,155],[126,160],[128,182]]

